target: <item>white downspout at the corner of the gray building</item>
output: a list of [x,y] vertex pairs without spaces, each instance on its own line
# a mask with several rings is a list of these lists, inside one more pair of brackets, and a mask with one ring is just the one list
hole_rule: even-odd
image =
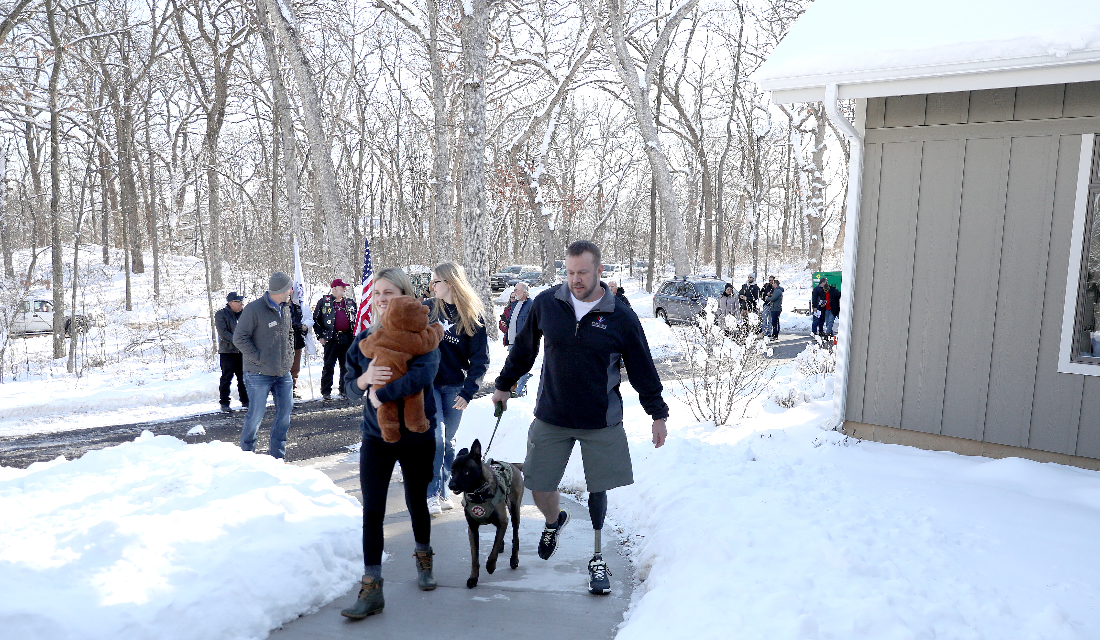
[[848,159],[848,221],[844,233],[844,294],[837,333],[836,378],[833,386],[833,416],[822,429],[840,430],[848,404],[848,368],[851,362],[851,315],[856,293],[856,252],[859,249],[859,196],[864,183],[864,136],[848,122],[836,104],[838,87],[825,85],[825,113],[851,144]]

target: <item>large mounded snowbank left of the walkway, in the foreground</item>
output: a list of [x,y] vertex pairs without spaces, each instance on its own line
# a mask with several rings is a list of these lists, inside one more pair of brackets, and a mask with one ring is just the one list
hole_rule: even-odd
[[0,467],[0,636],[266,638],[362,573],[362,511],[321,472],[143,433]]

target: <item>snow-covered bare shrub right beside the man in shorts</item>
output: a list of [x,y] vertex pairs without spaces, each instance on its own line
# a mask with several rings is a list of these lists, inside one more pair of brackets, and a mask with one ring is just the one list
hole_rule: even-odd
[[[695,328],[672,330],[683,362],[676,365],[682,377],[671,380],[670,388],[691,408],[695,420],[726,424],[735,412],[744,415],[748,401],[768,388],[774,368],[763,340],[718,327],[715,311],[712,298]],[[745,343],[738,344],[735,338],[741,335]]]

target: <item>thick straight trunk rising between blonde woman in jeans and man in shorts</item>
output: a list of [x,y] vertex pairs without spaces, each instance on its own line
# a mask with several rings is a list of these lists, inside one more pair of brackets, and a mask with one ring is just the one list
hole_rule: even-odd
[[[466,9],[471,13],[466,13]],[[488,287],[488,253],[485,211],[485,48],[488,44],[488,3],[468,0],[463,4],[462,67],[462,244],[465,267],[485,312],[492,315]],[[496,323],[485,321],[490,340],[496,340]]]

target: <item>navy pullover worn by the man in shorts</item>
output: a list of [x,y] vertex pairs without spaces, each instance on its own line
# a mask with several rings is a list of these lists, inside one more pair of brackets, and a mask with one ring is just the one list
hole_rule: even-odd
[[574,429],[603,429],[622,422],[619,356],[646,412],[654,420],[668,418],[669,407],[661,398],[664,387],[638,316],[616,300],[607,285],[600,286],[604,297],[580,322],[569,287],[558,285],[539,294],[516,334],[496,388],[507,391],[531,369],[539,339],[544,338],[547,352],[535,404],[539,420]]

